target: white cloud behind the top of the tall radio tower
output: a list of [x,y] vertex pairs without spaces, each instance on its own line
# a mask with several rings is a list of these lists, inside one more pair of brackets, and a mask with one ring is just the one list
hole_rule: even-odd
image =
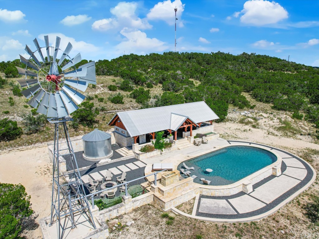
[[176,18],[178,19],[178,24],[180,27],[183,26],[182,13],[185,8],[185,4],[182,4],[181,0],[175,0],[171,2],[171,0],[159,2],[154,5],[154,7],[147,14],[147,18],[150,20],[162,20],[165,21],[168,25],[175,24],[175,11],[174,8],[177,8]]

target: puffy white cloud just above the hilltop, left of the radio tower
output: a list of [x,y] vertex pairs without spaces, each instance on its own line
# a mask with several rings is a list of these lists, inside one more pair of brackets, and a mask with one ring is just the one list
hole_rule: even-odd
[[120,33],[126,37],[126,40],[115,46],[118,53],[125,51],[127,54],[146,54],[149,52],[162,52],[168,48],[165,42],[156,38],[148,38],[146,33],[139,30],[130,31],[125,27]]

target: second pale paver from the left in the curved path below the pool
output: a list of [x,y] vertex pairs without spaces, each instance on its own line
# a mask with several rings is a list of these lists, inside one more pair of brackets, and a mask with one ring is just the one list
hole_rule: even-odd
[[236,208],[239,213],[252,212],[266,206],[265,203],[254,199],[247,194],[238,198],[228,199],[228,201]]

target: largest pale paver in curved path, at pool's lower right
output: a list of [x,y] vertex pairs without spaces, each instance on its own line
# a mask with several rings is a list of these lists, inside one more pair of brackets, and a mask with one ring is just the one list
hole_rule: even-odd
[[300,183],[298,179],[281,175],[256,188],[249,195],[268,204],[298,183]]

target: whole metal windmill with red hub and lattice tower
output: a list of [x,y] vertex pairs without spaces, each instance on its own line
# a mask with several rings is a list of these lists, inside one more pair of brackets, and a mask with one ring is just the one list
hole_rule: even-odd
[[[37,108],[37,112],[47,115],[47,119],[55,126],[53,148],[53,177],[52,177],[52,204],[50,226],[57,225],[58,238],[63,238],[65,227],[75,228],[79,217],[84,216],[86,221],[95,227],[90,206],[85,195],[78,163],[72,148],[67,121],[71,121],[70,113],[78,109],[85,96],[84,92],[89,83],[96,84],[95,62],[89,62],[76,69],[75,65],[81,62],[81,54],[70,58],[72,45],[61,50],[60,37],[56,37],[55,47],[49,46],[48,36],[44,36],[45,47],[40,47],[38,40],[33,40],[36,50],[32,51],[26,45],[26,52],[30,55],[27,60],[20,55],[26,68],[17,67],[24,79],[17,81],[21,87],[27,89],[21,91],[30,98],[28,105]],[[60,51],[60,52],[59,52]],[[43,57],[43,53],[47,56]],[[58,53],[61,55],[57,62]],[[36,55],[40,55],[41,62]],[[60,157],[69,156],[70,165],[67,174],[63,175],[67,180],[62,180],[60,172]]]

